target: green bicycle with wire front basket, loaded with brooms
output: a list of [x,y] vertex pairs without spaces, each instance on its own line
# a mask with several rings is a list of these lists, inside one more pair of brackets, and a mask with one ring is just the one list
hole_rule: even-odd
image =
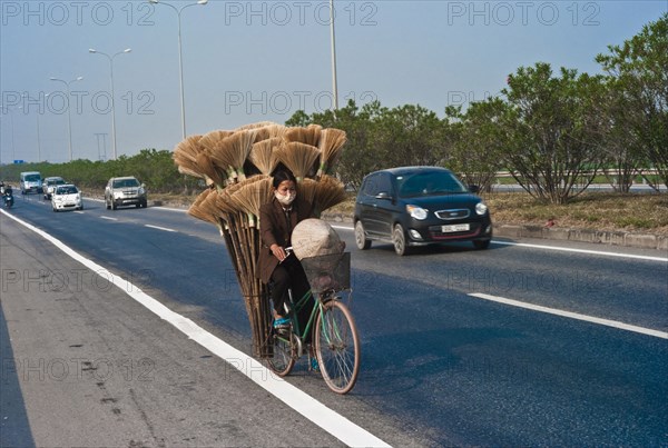
[[[279,377],[287,376],[297,359],[310,352],[305,341],[313,331],[312,345],[323,379],[334,392],[347,394],[357,380],[361,349],[355,320],[341,298],[341,292],[352,293],[350,252],[304,258],[302,266],[311,290],[297,302],[288,290],[285,310],[291,325],[285,330],[272,330],[268,366]],[[297,316],[310,301],[314,306],[302,330]],[[308,357],[311,360],[311,354]]]

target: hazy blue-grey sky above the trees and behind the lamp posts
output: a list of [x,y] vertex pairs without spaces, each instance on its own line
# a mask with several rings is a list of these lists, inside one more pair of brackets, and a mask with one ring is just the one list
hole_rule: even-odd
[[[195,1],[161,1],[183,8]],[[338,101],[439,116],[497,94],[538,61],[593,61],[668,11],[656,1],[335,0]],[[112,157],[181,140],[178,19],[147,1],[0,0],[0,162]],[[328,1],[223,1],[181,10],[186,135],[332,107]],[[39,127],[39,140],[38,140]],[[38,145],[39,143],[39,145]]]

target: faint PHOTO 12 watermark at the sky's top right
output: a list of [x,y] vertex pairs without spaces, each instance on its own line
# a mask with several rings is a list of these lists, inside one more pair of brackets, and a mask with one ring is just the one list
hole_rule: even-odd
[[597,27],[600,12],[601,6],[596,1],[449,1],[446,23],[471,27]]

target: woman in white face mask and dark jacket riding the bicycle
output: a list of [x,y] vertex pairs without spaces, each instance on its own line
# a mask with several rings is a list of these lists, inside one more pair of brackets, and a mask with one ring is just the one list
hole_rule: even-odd
[[[304,219],[314,217],[313,205],[297,197],[297,181],[289,171],[277,171],[272,182],[274,198],[259,208],[259,235],[262,247],[258,258],[259,279],[272,282],[274,303],[274,328],[289,328],[285,317],[284,303],[287,290],[292,289],[296,299],[310,289],[308,279],[302,263],[295,256],[286,253],[291,247],[291,236],[295,226]],[[299,312],[299,321],[307,319],[311,307]]]

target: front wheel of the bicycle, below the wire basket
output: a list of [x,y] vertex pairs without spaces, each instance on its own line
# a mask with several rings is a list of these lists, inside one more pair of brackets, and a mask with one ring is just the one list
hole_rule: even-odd
[[347,394],[360,372],[360,336],[353,315],[338,300],[323,305],[315,323],[315,351],[325,382],[336,394]]

